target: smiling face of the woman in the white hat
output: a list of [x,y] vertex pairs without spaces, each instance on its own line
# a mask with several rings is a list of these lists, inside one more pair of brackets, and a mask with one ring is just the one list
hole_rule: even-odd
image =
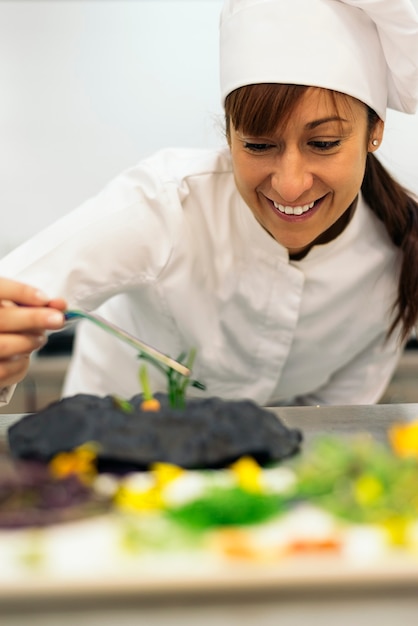
[[255,218],[291,255],[302,255],[345,227],[372,139],[367,108],[325,89],[304,90],[284,123],[248,134],[232,121],[235,182]]

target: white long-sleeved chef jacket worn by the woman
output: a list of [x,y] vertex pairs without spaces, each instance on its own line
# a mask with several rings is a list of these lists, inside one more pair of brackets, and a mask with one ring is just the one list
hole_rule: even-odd
[[[0,261],[0,275],[98,309],[174,358],[196,348],[207,395],[264,405],[379,399],[402,351],[399,333],[386,337],[399,268],[361,195],[336,239],[289,260],[240,197],[227,149],[161,151]],[[139,364],[82,322],[64,393],[131,397]]]

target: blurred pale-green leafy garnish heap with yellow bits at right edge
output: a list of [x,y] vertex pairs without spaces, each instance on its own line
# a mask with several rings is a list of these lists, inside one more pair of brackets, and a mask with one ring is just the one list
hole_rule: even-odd
[[418,515],[418,460],[359,438],[322,437],[294,463],[293,497],[354,523],[385,523]]

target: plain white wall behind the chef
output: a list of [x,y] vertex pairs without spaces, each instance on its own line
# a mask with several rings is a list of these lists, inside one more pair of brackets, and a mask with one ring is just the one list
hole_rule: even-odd
[[[156,149],[223,143],[221,5],[0,1],[0,256]],[[380,154],[418,193],[417,140],[389,115]]]

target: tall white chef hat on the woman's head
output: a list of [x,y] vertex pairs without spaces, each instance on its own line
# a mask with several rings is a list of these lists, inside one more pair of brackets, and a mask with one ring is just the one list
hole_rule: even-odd
[[289,83],[414,113],[418,16],[410,0],[225,0],[221,93]]

